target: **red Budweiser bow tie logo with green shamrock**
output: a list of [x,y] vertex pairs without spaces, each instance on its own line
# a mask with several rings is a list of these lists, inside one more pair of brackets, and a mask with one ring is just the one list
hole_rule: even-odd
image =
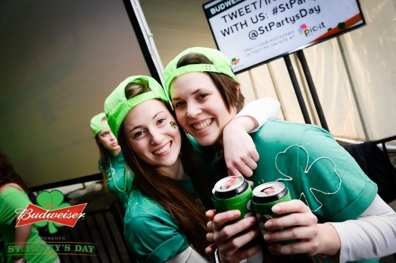
[[38,227],[48,225],[48,231],[51,234],[58,232],[57,227],[69,226],[74,227],[77,220],[84,217],[85,204],[71,206],[69,203],[63,203],[65,196],[59,190],[51,192],[42,191],[37,195],[37,205],[29,204],[25,209],[17,209],[18,223],[15,227],[35,224]]

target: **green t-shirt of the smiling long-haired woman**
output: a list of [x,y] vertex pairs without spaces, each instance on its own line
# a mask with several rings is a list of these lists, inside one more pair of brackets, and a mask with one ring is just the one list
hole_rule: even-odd
[[[197,196],[190,178],[175,181]],[[129,250],[140,263],[165,262],[189,246],[172,216],[137,189],[133,189],[129,195],[124,235]]]

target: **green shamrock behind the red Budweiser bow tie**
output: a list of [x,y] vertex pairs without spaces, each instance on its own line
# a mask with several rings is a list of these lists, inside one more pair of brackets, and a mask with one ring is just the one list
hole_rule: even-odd
[[[56,210],[60,208],[70,207],[69,203],[62,203],[65,199],[65,196],[60,190],[52,190],[51,192],[42,191],[37,195],[36,202],[37,206],[41,207],[45,210]],[[57,227],[63,227],[64,225],[48,222],[48,221],[41,221],[34,223],[38,227],[44,227],[48,224],[48,231],[51,234],[58,232]]]

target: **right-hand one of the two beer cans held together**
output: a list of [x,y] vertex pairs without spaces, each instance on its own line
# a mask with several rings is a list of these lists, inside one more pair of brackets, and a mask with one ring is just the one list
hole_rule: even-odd
[[264,227],[265,222],[271,218],[282,216],[274,214],[271,208],[280,202],[290,200],[289,190],[281,182],[267,182],[253,189],[253,211],[263,235],[268,232]]

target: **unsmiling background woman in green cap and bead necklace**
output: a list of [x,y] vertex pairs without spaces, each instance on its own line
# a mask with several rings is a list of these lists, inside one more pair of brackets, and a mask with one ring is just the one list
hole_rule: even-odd
[[121,147],[110,130],[105,112],[93,116],[90,126],[101,155],[98,168],[103,173],[104,185],[118,196],[125,211],[133,175],[126,167]]

